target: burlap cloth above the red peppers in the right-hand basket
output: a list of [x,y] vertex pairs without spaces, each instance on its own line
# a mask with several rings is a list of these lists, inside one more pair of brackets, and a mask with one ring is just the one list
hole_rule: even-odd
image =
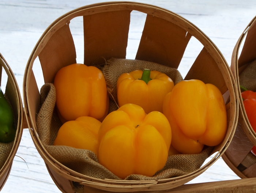
[[239,82],[241,86],[256,92],[256,60],[249,63],[241,72]]

